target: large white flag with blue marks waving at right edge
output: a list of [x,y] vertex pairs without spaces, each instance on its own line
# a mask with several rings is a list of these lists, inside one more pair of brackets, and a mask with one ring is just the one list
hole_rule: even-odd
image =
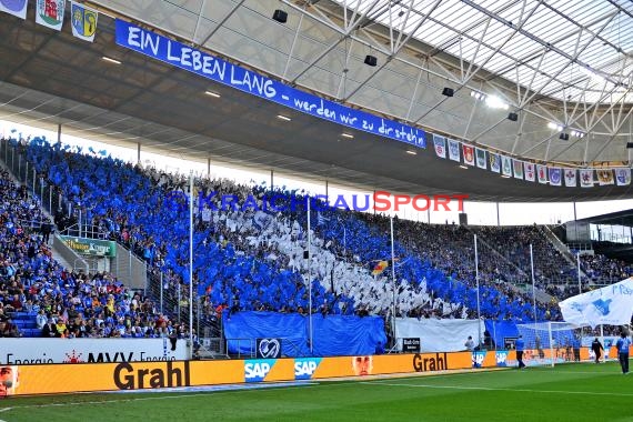
[[576,325],[623,325],[633,314],[633,278],[559,303],[563,319]]

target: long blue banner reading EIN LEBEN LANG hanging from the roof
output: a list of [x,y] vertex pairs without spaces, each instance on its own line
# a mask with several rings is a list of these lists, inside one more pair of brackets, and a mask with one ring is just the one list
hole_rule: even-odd
[[354,110],[288,87],[277,80],[119,19],[117,20],[117,44],[303,113],[414,147],[426,148],[426,133],[421,129]]

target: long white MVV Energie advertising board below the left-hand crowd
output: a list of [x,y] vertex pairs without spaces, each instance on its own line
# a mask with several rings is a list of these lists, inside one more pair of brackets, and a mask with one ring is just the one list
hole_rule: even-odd
[[169,339],[2,339],[0,364],[174,361],[189,358],[187,341]]

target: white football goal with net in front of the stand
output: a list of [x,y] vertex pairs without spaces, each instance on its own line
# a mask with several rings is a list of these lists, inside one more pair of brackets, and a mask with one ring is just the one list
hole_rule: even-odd
[[554,321],[518,324],[516,328],[525,343],[523,362],[528,366],[554,366],[556,363],[590,359],[589,348],[582,344],[583,334],[589,333],[589,328]]

